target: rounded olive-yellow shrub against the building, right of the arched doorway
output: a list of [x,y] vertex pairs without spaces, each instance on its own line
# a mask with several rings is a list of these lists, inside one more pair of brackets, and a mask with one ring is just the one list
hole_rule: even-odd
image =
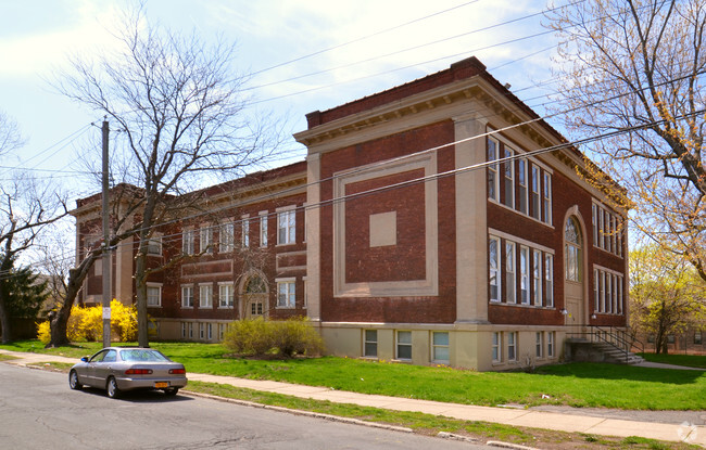
[[235,353],[252,357],[279,355],[291,358],[294,355],[319,355],[324,350],[324,340],[306,318],[238,320],[228,326],[223,344]]

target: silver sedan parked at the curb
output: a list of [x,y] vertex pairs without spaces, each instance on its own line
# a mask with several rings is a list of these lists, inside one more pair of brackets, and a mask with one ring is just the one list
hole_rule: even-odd
[[187,385],[184,364],[152,348],[108,347],[84,357],[68,372],[68,386],[105,389],[110,398],[123,390],[161,389],[173,396]]

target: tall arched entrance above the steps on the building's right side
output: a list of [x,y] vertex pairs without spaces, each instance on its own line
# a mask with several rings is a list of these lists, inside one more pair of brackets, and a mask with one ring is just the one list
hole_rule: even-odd
[[581,332],[584,318],[584,243],[582,227],[577,216],[564,222],[564,301],[565,325],[569,333]]

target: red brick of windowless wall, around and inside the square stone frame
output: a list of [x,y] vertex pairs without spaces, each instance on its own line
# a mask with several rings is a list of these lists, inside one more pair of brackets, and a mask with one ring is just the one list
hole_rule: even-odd
[[[376,162],[382,162],[401,155],[419,152],[454,140],[454,125],[452,120],[444,120],[426,127],[408,130],[382,139],[368,141],[357,145],[343,147],[322,156],[322,178],[327,179],[335,172],[350,169],[352,167],[365,166]],[[451,170],[454,167],[454,149],[444,149],[438,153],[438,170]],[[403,173],[401,177],[408,177]],[[373,180],[371,183],[377,183]],[[361,188],[361,187],[357,187]],[[353,188],[355,189],[355,187]],[[456,253],[455,253],[455,184],[453,178],[438,181],[438,215],[439,215],[439,296],[433,297],[382,297],[382,298],[333,298],[332,267],[333,267],[333,237],[332,237],[332,208],[322,208],[322,319],[325,321],[363,321],[363,322],[418,322],[418,323],[451,323],[456,318]],[[360,247],[353,249],[355,261],[361,261],[361,267],[349,273],[355,281],[375,281],[393,277],[398,269],[408,279],[414,273],[420,273],[418,265],[425,248],[419,239],[424,235],[421,185],[405,190],[392,190],[384,195],[376,195],[360,198],[351,205],[354,210],[361,210],[362,217],[350,215],[349,224],[362,224],[369,219],[370,211],[382,211],[383,207],[395,207],[398,210],[398,227],[402,220],[400,215],[412,223],[404,223],[403,227],[412,226],[415,232],[407,234],[400,232],[399,241],[401,249],[398,255],[419,254],[414,261],[395,260],[387,258],[381,253],[375,255],[366,248],[366,242],[360,242]],[[409,195],[411,198],[405,198]],[[326,181],[322,184],[322,200],[332,198],[332,183]],[[415,201],[419,198],[419,201]],[[381,202],[381,204],[378,204]],[[349,206],[346,206],[346,209]],[[389,210],[389,209],[387,209]],[[365,226],[367,227],[367,226]],[[400,231],[400,229],[399,229]],[[401,236],[407,234],[407,236]],[[355,237],[355,235],[353,236]],[[406,239],[411,241],[405,241]],[[346,242],[349,237],[346,236]],[[367,245],[369,247],[369,245]],[[375,250],[375,249],[374,249]],[[375,255],[380,259],[375,260],[368,267],[366,255]],[[351,256],[349,256],[349,259]],[[348,265],[349,262],[346,262]],[[374,273],[377,268],[380,274]],[[368,280],[365,278],[368,277]],[[348,280],[351,281],[351,280]]]

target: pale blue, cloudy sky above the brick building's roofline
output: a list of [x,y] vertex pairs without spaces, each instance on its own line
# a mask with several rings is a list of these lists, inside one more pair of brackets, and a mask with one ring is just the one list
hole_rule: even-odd
[[[0,162],[0,171],[24,167],[55,177],[74,198],[98,190],[77,178],[81,166],[76,155],[93,154],[94,143],[99,157],[100,130],[88,125],[100,125],[101,117],[58,94],[48,80],[66,66],[70,54],[110,49],[111,27],[119,11],[131,4],[0,0],[0,110],[27,138],[16,155]],[[237,42],[234,70],[256,73],[249,85],[256,107],[287,115],[290,133],[305,129],[304,115],[312,111],[389,89],[470,55],[542,114],[544,100],[537,97],[544,91],[529,88],[550,78],[554,37],[528,38],[545,31],[541,16],[492,26],[544,8],[542,1],[525,0],[146,2],[152,23],[193,29],[206,41],[220,36]],[[288,64],[267,69],[282,63]],[[319,74],[302,77],[312,73]],[[62,141],[70,136],[76,139]],[[303,158],[301,145],[292,140],[289,146]]]

